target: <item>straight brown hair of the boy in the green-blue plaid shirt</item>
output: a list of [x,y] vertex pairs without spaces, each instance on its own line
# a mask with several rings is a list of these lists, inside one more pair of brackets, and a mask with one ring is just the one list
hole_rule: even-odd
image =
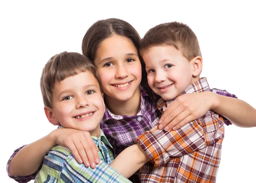
[[61,52],[50,58],[44,66],[40,80],[44,105],[52,108],[52,93],[55,82],[61,82],[65,78],[76,76],[86,71],[92,73],[99,82],[96,68],[89,58],[84,55],[76,52]]

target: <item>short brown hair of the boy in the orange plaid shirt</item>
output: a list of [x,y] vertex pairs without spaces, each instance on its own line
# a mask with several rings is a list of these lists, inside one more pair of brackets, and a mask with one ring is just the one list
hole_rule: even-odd
[[195,33],[184,23],[162,23],[149,29],[140,41],[140,55],[151,46],[163,45],[174,46],[188,61],[202,56]]

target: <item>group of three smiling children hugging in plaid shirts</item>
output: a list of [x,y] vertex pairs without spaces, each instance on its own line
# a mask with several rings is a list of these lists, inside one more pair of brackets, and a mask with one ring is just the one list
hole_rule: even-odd
[[[72,148],[40,139],[15,151],[7,165],[10,177],[19,182],[35,178],[35,182],[52,183],[216,181],[224,123],[231,124],[228,119],[237,124],[247,121],[242,110],[241,118],[234,119],[236,111],[223,109],[218,101],[241,109],[248,105],[225,90],[214,89],[222,96],[211,92],[207,79],[199,77],[201,50],[188,26],[163,23],[140,40],[129,23],[100,20],[86,32],[82,52],[53,56],[44,67],[41,92],[47,119],[59,125],[58,133],[65,132],[60,132],[62,128],[90,132],[98,148],[92,148],[92,153],[99,158],[84,164],[75,158],[77,144],[87,146],[84,141]],[[197,93],[191,97],[204,94],[214,101],[206,104],[204,116],[193,116],[184,109],[186,105],[179,105],[188,93]],[[177,116],[186,125],[163,130],[164,122],[159,120],[163,113]],[[41,157],[35,151],[38,157],[27,157],[36,147]],[[79,154],[89,156],[90,151],[85,151]],[[31,162],[30,166],[18,170],[24,163],[20,159]],[[26,174],[31,175],[21,176]]]

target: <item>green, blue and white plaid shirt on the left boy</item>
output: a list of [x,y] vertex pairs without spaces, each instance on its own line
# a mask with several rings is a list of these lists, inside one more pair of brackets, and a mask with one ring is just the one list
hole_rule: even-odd
[[44,164],[35,177],[35,183],[131,183],[128,179],[111,168],[113,154],[103,131],[99,138],[93,137],[99,148],[101,162],[96,168],[88,168],[78,163],[68,148],[57,145],[44,157]]

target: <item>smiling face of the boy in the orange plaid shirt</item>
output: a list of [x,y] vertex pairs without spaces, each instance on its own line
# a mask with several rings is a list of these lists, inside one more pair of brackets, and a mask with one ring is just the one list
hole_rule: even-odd
[[148,85],[164,100],[172,100],[193,81],[193,65],[173,46],[152,46],[143,53]]

